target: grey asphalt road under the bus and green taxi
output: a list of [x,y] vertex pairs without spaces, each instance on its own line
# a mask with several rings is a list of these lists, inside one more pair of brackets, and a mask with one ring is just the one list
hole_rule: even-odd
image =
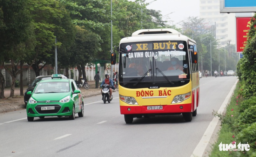
[[28,122],[26,110],[0,114],[0,156],[189,157],[236,81],[234,76],[201,78],[200,105],[191,122],[169,115],[136,118],[127,125],[118,92],[110,104],[103,104],[101,96],[85,98],[85,116],[76,114],[75,120]]

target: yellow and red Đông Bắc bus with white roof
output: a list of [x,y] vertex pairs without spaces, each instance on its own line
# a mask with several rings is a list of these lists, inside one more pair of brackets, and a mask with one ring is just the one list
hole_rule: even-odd
[[200,90],[193,39],[174,29],[138,30],[121,39],[111,64],[117,53],[120,112],[127,124],[142,116],[196,116]]

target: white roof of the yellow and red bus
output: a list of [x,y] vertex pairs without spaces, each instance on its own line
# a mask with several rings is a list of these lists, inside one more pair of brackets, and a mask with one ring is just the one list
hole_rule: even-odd
[[131,37],[126,37],[121,39],[121,43],[133,43],[133,42],[150,42],[150,41],[164,41],[164,40],[181,40],[186,41],[190,40],[193,43],[196,43],[195,40],[182,35],[180,32],[170,29],[141,29],[135,31]]

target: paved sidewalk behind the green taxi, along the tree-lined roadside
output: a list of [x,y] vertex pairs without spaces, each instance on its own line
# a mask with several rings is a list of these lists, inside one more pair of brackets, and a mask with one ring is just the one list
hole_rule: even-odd
[[[87,90],[85,88],[80,88],[83,99],[87,97],[92,97],[96,95],[101,95],[101,89],[95,89],[95,82],[89,82],[90,88]],[[26,87],[23,87],[23,90],[27,89]],[[16,111],[16,110],[22,110],[26,109],[25,103],[24,103],[24,97],[23,95],[20,96],[20,88],[16,87],[14,91],[14,97],[10,96],[10,88],[5,89],[5,99],[0,99],[0,113],[10,112],[10,111]],[[118,92],[118,89],[113,90],[114,92]],[[23,93],[24,93],[23,92]]]

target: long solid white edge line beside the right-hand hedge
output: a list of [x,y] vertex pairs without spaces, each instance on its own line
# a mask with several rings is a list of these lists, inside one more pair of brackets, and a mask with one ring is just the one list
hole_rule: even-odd
[[[229,91],[229,94],[225,98],[224,102],[222,103],[220,109],[218,110],[218,113],[222,114],[226,105],[228,104],[228,100],[230,99],[231,95],[234,92],[234,89],[236,87],[238,81],[233,85],[231,90]],[[209,126],[206,129],[206,132],[204,132],[202,139],[197,144],[195,150],[193,151],[192,155],[190,157],[198,157],[203,156],[203,152],[207,147],[207,144],[209,143],[211,136],[213,135],[214,129],[217,126],[217,123],[219,121],[219,117],[214,117],[213,120],[210,122]]]

